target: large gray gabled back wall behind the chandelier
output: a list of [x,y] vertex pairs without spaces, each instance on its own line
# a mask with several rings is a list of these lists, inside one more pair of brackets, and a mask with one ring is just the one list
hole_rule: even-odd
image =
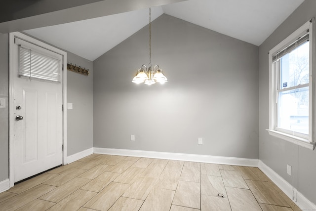
[[163,14],[152,63],[169,83],[133,84],[148,39],[147,26],[93,62],[94,147],[258,159],[258,47]]

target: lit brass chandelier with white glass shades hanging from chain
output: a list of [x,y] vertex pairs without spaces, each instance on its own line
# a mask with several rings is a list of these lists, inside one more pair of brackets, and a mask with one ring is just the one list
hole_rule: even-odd
[[164,84],[168,82],[167,78],[163,75],[161,68],[155,65],[152,68],[152,26],[151,26],[151,8],[149,8],[149,65],[148,69],[146,65],[142,65],[141,68],[137,70],[136,76],[133,78],[132,82],[135,84]]

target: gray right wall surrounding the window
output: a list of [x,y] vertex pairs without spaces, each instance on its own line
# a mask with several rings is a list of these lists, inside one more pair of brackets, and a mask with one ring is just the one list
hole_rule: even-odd
[[[316,151],[275,138],[266,131],[269,128],[268,52],[312,17],[316,17],[316,1],[305,0],[259,47],[259,158],[316,204]],[[286,164],[292,166],[292,176],[286,174]]]

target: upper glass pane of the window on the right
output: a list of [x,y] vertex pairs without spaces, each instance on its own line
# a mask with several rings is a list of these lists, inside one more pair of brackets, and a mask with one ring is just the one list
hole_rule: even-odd
[[309,83],[309,42],[280,58],[279,89]]

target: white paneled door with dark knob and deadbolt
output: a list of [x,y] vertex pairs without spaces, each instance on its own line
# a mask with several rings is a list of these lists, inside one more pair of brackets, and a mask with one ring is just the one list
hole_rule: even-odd
[[[14,182],[59,166],[63,162],[62,83],[21,78],[18,73],[21,42],[24,41],[18,40],[12,46],[16,58],[13,67],[12,120]],[[47,50],[28,42],[24,44],[30,49]],[[59,71],[62,76],[62,62]]]

